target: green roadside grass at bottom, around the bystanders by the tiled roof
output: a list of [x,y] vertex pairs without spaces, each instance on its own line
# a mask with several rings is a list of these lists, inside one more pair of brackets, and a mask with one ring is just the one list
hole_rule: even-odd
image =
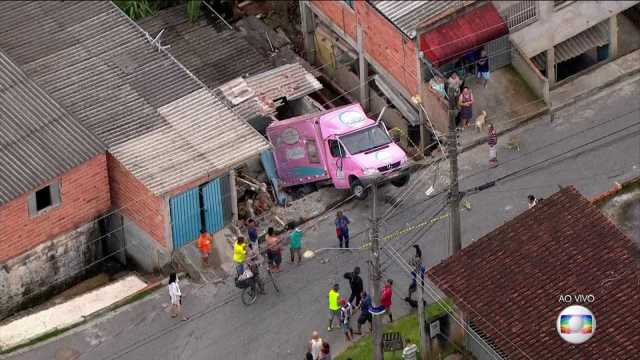
[[[433,303],[425,309],[425,313],[427,314],[427,319],[433,319],[435,317],[440,316],[445,313],[445,309],[451,309],[453,306],[453,301],[450,298],[446,298],[437,303]],[[363,330],[367,329],[365,325]],[[384,332],[399,332],[402,335],[402,338],[407,341],[410,339],[414,344],[418,345],[418,351],[420,349],[420,328],[418,327],[418,315],[411,314],[404,316],[391,324],[385,325]],[[441,355],[444,357],[452,352],[454,352],[454,348],[447,348],[441,352]],[[351,346],[349,346],[344,352],[339,354],[335,359],[336,360],[347,360],[347,359],[372,359],[373,351],[371,349],[371,336],[363,336],[358,341],[354,342]],[[395,353],[385,353],[384,356],[387,360],[402,360],[402,351],[396,351]]]

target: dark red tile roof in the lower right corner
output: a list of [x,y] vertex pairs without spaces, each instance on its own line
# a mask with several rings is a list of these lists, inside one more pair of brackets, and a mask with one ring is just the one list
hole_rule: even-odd
[[[572,187],[429,276],[509,359],[640,359],[640,250]],[[581,345],[556,331],[565,294],[595,296],[596,332]]]

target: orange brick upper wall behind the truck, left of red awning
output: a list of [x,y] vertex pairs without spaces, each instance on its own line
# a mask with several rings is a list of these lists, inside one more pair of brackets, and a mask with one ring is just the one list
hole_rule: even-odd
[[412,40],[366,1],[354,1],[355,10],[344,1],[313,1],[346,36],[356,41],[356,22],[362,24],[365,52],[412,95],[418,92],[416,49]]

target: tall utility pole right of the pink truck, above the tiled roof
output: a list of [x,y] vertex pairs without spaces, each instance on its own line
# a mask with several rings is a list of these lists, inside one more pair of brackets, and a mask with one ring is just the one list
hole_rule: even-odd
[[462,248],[460,240],[460,189],[458,184],[458,134],[456,130],[456,101],[452,87],[448,90],[449,97],[449,139],[447,152],[449,155],[449,232],[451,243],[449,253],[454,255]]

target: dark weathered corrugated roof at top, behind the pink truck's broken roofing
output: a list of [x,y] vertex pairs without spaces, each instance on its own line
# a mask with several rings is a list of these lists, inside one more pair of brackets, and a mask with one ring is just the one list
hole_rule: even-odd
[[164,30],[162,45],[209,88],[274,67],[241,33],[219,31],[204,20],[192,23],[185,13],[185,5],[175,6],[138,24],[154,38]]

